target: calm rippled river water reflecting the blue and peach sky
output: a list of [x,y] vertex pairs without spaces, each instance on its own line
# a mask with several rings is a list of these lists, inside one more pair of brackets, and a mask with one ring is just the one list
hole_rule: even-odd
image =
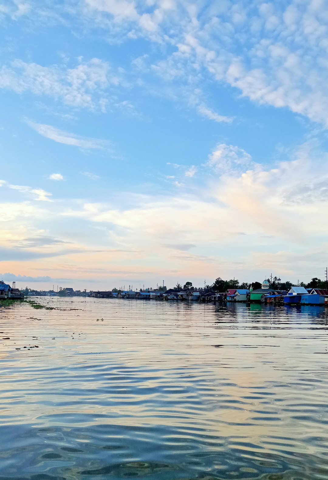
[[0,480],[328,479],[328,309],[37,300],[0,309]]

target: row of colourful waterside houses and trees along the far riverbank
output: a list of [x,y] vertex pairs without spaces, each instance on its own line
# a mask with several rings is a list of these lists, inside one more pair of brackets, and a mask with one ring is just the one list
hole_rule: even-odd
[[[278,279],[280,280],[280,279]],[[231,280],[229,282],[238,282]],[[12,287],[0,281],[0,301],[1,300],[23,300],[25,297],[37,296],[59,296],[59,297],[91,297],[98,299],[125,299],[125,300],[177,300],[177,301],[196,301],[196,302],[226,302],[226,303],[265,303],[271,305],[323,305],[328,307],[328,288],[317,288],[318,284],[322,287],[324,283],[317,278],[313,278],[308,286],[293,286],[280,284],[279,282],[269,279],[254,282],[245,288],[227,288],[225,291],[217,291],[220,283],[224,282],[221,278],[217,279],[212,286],[207,285],[205,288],[193,288],[191,282],[187,282],[182,288],[177,284],[175,288],[146,288],[140,290],[132,290],[131,287],[125,290],[113,288],[104,291],[73,290],[73,288],[59,288],[57,292],[54,290],[37,291],[25,288],[19,290],[16,288],[15,282]],[[311,284],[313,286],[311,286]],[[320,285],[321,284],[321,285]],[[256,287],[256,288],[253,288]],[[281,287],[285,287],[282,289]],[[288,288],[286,288],[288,287]]]

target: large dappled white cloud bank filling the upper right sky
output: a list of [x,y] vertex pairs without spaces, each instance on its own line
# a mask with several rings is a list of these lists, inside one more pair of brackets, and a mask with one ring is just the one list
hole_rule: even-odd
[[[97,12],[110,13],[115,25],[122,27],[120,35],[147,35],[176,48],[151,66],[162,79],[191,88],[204,84],[207,71],[254,102],[289,108],[328,127],[327,2],[292,0],[286,6],[277,2],[257,6],[241,1],[204,8],[190,2],[171,2],[167,8],[158,1],[147,7],[138,1],[118,6],[113,0],[88,0],[88,4]],[[141,71],[147,69],[144,60],[135,61]],[[214,121],[232,120],[201,100],[195,108]]]

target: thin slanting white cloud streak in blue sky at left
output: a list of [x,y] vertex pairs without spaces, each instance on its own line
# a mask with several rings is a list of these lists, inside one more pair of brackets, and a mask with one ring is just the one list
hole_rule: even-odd
[[52,127],[51,125],[35,123],[31,120],[26,120],[26,123],[40,135],[49,138],[54,142],[58,142],[59,144],[72,145],[85,149],[102,149],[109,145],[109,142],[105,140],[79,137],[78,135],[74,135],[73,133],[62,132],[61,130]]

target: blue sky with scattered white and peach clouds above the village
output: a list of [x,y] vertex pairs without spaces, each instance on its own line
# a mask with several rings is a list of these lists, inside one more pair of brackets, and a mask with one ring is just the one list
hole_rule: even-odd
[[324,277],[328,3],[0,0],[0,279]]

